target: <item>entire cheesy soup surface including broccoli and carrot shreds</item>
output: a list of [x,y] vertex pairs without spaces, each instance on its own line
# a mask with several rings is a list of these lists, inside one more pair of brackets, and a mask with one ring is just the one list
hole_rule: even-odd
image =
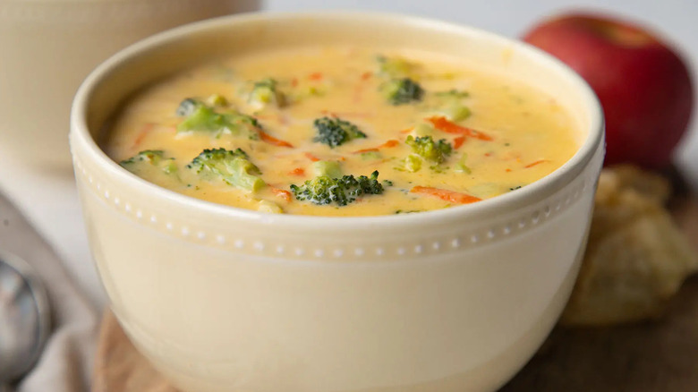
[[105,149],[202,200],[365,216],[516,192],[574,155],[575,132],[553,98],[463,59],[306,47],[236,55],[141,91]]

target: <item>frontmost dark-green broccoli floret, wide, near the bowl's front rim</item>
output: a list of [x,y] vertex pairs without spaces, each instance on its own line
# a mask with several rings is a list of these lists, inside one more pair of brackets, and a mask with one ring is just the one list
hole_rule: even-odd
[[383,185],[378,181],[379,172],[373,172],[370,177],[360,175],[344,175],[332,178],[321,175],[308,180],[301,186],[291,185],[291,192],[296,200],[308,200],[314,204],[336,204],[345,206],[362,195],[383,193]]

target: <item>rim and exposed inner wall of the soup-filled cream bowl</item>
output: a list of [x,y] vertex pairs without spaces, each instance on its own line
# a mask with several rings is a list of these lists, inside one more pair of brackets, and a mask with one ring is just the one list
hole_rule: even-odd
[[[400,217],[299,217],[269,218],[279,223],[293,219],[309,227],[318,219],[361,220],[382,224],[387,218],[413,219],[432,216],[444,219],[491,216],[493,212],[516,209],[555,192],[562,183],[571,181],[589,162],[603,137],[600,106],[586,83],[564,64],[549,55],[514,40],[453,25],[402,15],[382,13],[251,13],[193,23],[158,34],[123,50],[102,64],[83,83],[72,111],[72,132],[89,145],[90,154],[100,164],[111,166],[113,173],[124,181],[140,182],[140,178],[117,166],[98,148],[109,119],[134,92],[166,76],[212,61],[221,55],[235,55],[275,47],[333,46],[350,44],[370,47],[409,47],[462,57],[474,67],[489,72],[506,73],[507,77],[524,81],[541,89],[565,107],[573,117],[580,149],[564,166],[551,175],[532,183],[522,192],[511,192],[479,203]],[[128,178],[126,178],[128,177]],[[257,211],[212,205],[193,200],[156,186],[167,199],[207,209],[211,213],[259,219]],[[165,193],[162,193],[165,192]],[[461,211],[459,214],[455,210]],[[298,223],[298,222],[296,222]]]

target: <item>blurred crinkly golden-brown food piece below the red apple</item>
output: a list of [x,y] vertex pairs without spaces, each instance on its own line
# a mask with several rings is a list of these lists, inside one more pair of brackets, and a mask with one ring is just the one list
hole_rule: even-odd
[[611,325],[660,316],[698,256],[664,204],[670,186],[634,166],[603,170],[589,243],[561,323]]

